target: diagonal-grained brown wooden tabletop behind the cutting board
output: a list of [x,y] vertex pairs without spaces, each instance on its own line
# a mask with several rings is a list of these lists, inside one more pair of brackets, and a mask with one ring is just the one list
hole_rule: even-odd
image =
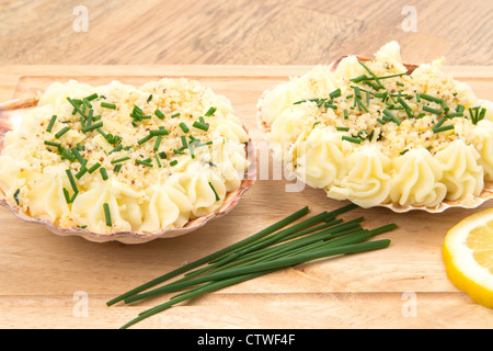
[[[73,30],[78,5],[87,32]],[[0,65],[316,65],[370,56],[391,39],[410,61],[493,65],[489,0],[0,0]]]

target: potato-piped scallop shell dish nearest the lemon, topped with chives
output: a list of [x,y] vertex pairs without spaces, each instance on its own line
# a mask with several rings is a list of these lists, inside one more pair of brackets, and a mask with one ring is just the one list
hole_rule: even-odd
[[257,122],[274,157],[331,199],[395,212],[477,207],[493,197],[493,103],[390,42],[264,92]]

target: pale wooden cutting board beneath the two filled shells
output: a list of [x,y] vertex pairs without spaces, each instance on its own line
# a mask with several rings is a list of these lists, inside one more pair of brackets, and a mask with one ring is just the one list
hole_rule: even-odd
[[[286,192],[282,168],[265,154],[255,105],[267,88],[310,67],[246,66],[11,66],[0,68],[2,100],[26,97],[70,78],[91,84],[116,79],[141,84],[161,77],[198,79],[227,95],[260,150],[253,189],[225,217],[182,237],[142,245],[94,244],[60,237],[0,210],[0,328],[118,328],[170,295],[136,305],[105,303],[186,262],[214,252],[308,205],[311,213],[346,203],[322,191]],[[446,67],[479,98],[493,100],[493,67]],[[266,156],[267,155],[267,156]],[[265,163],[267,162],[267,163]],[[268,165],[265,168],[265,165]],[[320,260],[195,298],[136,328],[492,328],[493,312],[447,279],[442,244],[466,216],[492,207],[442,214],[355,210],[364,227],[395,223],[389,248]]]

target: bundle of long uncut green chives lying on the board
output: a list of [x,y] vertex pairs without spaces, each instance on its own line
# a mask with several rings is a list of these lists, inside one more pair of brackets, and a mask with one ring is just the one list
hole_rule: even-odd
[[[279,269],[319,258],[387,247],[390,242],[389,240],[363,241],[377,234],[392,230],[395,228],[395,225],[391,224],[377,229],[367,230],[359,226],[363,217],[346,223],[335,218],[336,215],[355,207],[356,205],[351,204],[333,212],[322,212],[309,219],[285,228],[287,225],[308,213],[308,207],[303,207],[297,213],[259,231],[252,237],[161,275],[153,281],[142,284],[110,301],[107,305],[111,306],[119,301],[131,303],[165,292],[190,287],[187,291],[171,297],[170,302],[141,313],[137,318],[123,327],[127,328],[137,321],[167,309],[184,299],[267,274]],[[314,226],[318,223],[322,223],[322,225]],[[208,265],[188,272],[205,263],[208,263]],[[188,273],[184,274],[181,280],[141,293],[151,286],[185,272]]]

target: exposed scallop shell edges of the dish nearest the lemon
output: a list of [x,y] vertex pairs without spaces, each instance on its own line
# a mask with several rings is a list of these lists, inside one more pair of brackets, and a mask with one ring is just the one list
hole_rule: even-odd
[[[339,63],[347,56],[343,56],[340,59],[337,59],[336,61],[334,61],[331,65],[331,70],[334,71],[337,68]],[[360,61],[369,61],[371,60],[371,58],[368,57],[363,57],[363,56],[356,56],[358,58],[358,60]],[[414,69],[416,69],[419,67],[419,65],[413,65],[413,64],[404,64],[405,68],[408,68],[408,72],[412,73],[414,71]],[[267,140],[267,134],[271,132],[271,127],[267,125],[267,123],[262,118],[262,105],[263,105],[263,101],[265,95],[271,91],[272,89],[267,89],[265,90],[261,98],[259,99],[257,105],[256,105],[256,122],[257,122],[257,126],[262,132],[263,138],[264,140]],[[428,213],[442,213],[447,208],[451,208],[451,207],[461,207],[461,208],[475,208],[481,206],[485,201],[493,199],[493,182],[484,182],[484,189],[481,192],[481,194],[479,196],[473,197],[472,200],[468,201],[468,202],[461,202],[461,201],[443,201],[442,203],[439,203],[436,206],[412,206],[412,205],[408,205],[408,206],[400,206],[399,204],[393,204],[393,203],[382,203],[380,205],[378,205],[378,207],[387,207],[390,208],[391,211],[395,212],[395,213],[404,213],[404,212],[409,212],[409,211],[413,211],[413,210],[421,210],[421,211],[426,211]]]

